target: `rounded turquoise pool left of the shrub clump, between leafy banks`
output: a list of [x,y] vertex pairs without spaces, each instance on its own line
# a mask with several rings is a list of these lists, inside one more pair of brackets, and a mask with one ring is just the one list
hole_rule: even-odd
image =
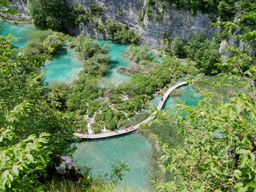
[[62,48],[50,61],[45,62],[41,71],[48,71],[45,75],[46,82],[58,80],[71,83],[81,70],[82,66],[74,49]]

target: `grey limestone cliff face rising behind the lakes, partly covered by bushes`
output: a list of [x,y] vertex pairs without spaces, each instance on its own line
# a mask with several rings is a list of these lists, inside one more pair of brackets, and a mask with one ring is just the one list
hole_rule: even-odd
[[[68,6],[74,6],[75,3],[81,4],[90,9],[91,3],[95,0],[66,0]],[[179,35],[182,40],[189,40],[193,35],[197,35],[202,29],[206,30],[207,37],[213,37],[213,28],[210,28],[211,16],[197,12],[196,16],[192,16],[187,10],[176,10],[167,4],[167,8],[162,10],[163,18],[161,21],[149,19],[145,14],[143,18],[143,26],[139,23],[138,13],[143,12],[146,0],[96,0],[103,7],[103,13],[106,19],[116,19],[121,23],[127,23],[129,27],[139,31],[140,44],[149,45],[152,48],[162,47],[161,41],[166,36],[174,37]],[[19,15],[14,16],[18,19],[29,18],[26,14],[26,2],[22,0],[14,1],[13,9],[19,9]],[[80,26],[79,29],[70,28],[71,33],[79,34],[84,31],[85,34],[96,38],[103,38],[104,35],[97,32],[97,28],[91,24]]]

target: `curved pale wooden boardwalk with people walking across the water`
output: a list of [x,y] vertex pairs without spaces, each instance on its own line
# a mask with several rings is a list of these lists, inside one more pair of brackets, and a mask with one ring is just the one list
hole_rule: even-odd
[[[158,110],[161,110],[161,109],[162,109],[165,100],[169,97],[170,93],[171,93],[174,89],[176,89],[176,88],[178,88],[178,87],[180,87],[180,86],[182,86],[182,85],[185,85],[185,84],[187,84],[187,82],[186,82],[186,81],[183,81],[183,82],[180,82],[180,83],[178,83],[178,84],[172,86],[171,88],[169,88],[169,89],[166,91],[166,93],[163,95],[163,101],[160,101],[160,102],[159,102],[159,104],[158,104],[158,106],[157,106],[157,109],[158,109]],[[124,134],[124,133],[129,133],[129,132],[131,132],[131,131],[134,131],[134,130],[138,129],[141,123],[148,123],[149,121],[151,121],[151,120],[154,118],[154,117],[151,117],[151,116],[152,116],[152,115],[150,115],[150,117],[146,118],[144,121],[140,122],[139,124],[133,126],[133,129],[127,128],[127,131],[126,131],[125,129],[123,129],[123,130],[117,131],[117,133],[116,133],[115,131],[113,131],[113,132],[110,132],[110,133],[91,134],[91,135],[89,135],[89,134],[82,134],[82,133],[74,133],[74,135],[77,136],[77,137],[79,137],[79,138],[81,138],[81,139],[100,139],[100,138],[106,138],[106,137],[117,136],[117,135],[121,135],[121,134]]]

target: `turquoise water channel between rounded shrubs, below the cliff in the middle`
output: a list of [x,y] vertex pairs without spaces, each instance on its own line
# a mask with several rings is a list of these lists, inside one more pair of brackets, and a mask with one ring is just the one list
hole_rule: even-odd
[[110,47],[111,58],[110,58],[110,62],[108,63],[110,65],[110,69],[107,72],[107,74],[105,74],[103,81],[101,81],[102,83],[101,87],[106,87],[107,85],[110,85],[110,84],[113,84],[116,86],[122,82],[129,81],[130,79],[129,75],[126,75],[125,73],[117,72],[118,67],[128,66],[131,63],[129,59],[124,58],[122,55],[124,51],[128,50],[129,46],[121,43],[113,43],[109,40],[101,40],[101,39],[93,39],[93,40],[100,43],[101,46],[103,46],[105,43],[108,43],[111,46]]

